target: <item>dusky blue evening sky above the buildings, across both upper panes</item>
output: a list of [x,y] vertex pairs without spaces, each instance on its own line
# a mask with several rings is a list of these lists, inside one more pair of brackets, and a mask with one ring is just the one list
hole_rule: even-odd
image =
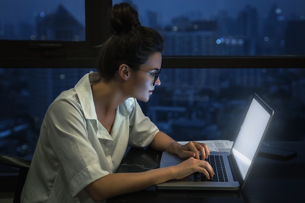
[[[173,18],[188,16],[194,19],[213,19],[220,11],[227,11],[229,17],[236,18],[238,12],[250,5],[258,10],[259,18],[266,18],[273,4],[276,4],[286,18],[299,18],[305,20],[304,0],[127,0],[136,5],[139,18],[147,23],[147,12],[156,12],[159,23],[163,26],[171,23]],[[113,0],[114,3],[122,0]],[[52,0],[52,1],[26,1],[1,0],[0,25],[5,23],[18,23],[20,19],[35,23],[35,15],[49,15],[54,13],[58,4],[62,4],[82,24],[85,25],[84,0]],[[297,6],[296,6],[297,5]],[[26,9],[24,9],[26,8]],[[260,19],[261,20],[261,19]]]

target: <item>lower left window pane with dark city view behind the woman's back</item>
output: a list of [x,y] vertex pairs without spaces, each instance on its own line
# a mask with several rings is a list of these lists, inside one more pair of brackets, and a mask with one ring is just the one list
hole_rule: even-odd
[[49,105],[90,71],[94,69],[0,68],[1,153],[31,159]]

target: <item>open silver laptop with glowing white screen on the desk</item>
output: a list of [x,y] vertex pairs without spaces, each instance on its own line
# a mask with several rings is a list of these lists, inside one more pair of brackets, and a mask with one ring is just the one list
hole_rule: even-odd
[[[215,172],[211,180],[206,180],[203,174],[194,173],[181,180],[170,180],[158,184],[156,188],[175,190],[242,189],[273,114],[274,111],[254,93],[230,152],[210,152],[209,162]],[[174,166],[182,161],[184,160],[174,154],[163,152],[160,167]]]

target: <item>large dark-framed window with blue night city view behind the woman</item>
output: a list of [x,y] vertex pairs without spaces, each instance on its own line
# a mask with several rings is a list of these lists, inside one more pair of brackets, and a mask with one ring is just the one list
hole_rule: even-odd
[[[35,39],[17,34],[12,35],[15,38],[5,37],[4,32],[8,31],[22,30],[25,36],[32,36],[33,32],[27,23],[20,22],[18,29],[7,25],[8,18],[2,11],[10,0],[0,2],[0,151],[3,153],[30,158],[49,104],[61,91],[72,88],[83,74],[94,71],[95,46],[109,36],[107,12],[112,2],[71,1],[74,4],[67,6],[69,0],[61,1],[62,4],[44,0],[54,6],[43,18],[63,9],[74,17],[77,25],[73,29],[68,29],[69,26],[49,29],[41,24]],[[13,6],[26,3],[32,7],[29,2],[33,0],[19,0]],[[120,1],[113,0],[116,2]],[[267,139],[304,140],[305,45],[300,38],[305,36],[302,30],[305,26],[299,13],[304,1],[289,1],[292,7],[286,6],[284,0],[276,0],[275,8],[281,9],[275,9],[275,13],[271,1],[263,0],[129,2],[138,8],[143,25],[157,29],[166,41],[162,85],[156,87],[148,103],[140,102],[143,111],[161,130],[176,140],[231,140],[247,99],[257,92],[275,110]],[[200,3],[205,3],[206,13],[207,10],[213,13],[200,13]],[[224,11],[231,7],[237,8],[235,13],[231,13],[233,9]],[[265,15],[258,7],[263,8]],[[292,10],[287,11],[290,7]],[[85,18],[75,10],[84,10]],[[275,21],[262,23],[268,15],[272,16],[269,11],[275,15],[273,20],[279,20],[273,33],[273,29],[267,30]],[[253,19],[253,15],[259,20],[249,24],[247,19]],[[257,32],[249,32],[257,27]],[[286,29],[281,30],[283,27]],[[275,36],[277,33],[280,37]]]

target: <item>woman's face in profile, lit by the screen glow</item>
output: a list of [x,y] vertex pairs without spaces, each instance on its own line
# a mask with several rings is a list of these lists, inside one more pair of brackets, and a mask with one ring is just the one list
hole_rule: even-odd
[[133,97],[143,102],[147,102],[152,95],[155,86],[161,85],[160,78],[153,85],[155,74],[161,69],[162,55],[155,53],[148,59],[145,64],[142,64],[136,72],[134,72],[133,82]]

